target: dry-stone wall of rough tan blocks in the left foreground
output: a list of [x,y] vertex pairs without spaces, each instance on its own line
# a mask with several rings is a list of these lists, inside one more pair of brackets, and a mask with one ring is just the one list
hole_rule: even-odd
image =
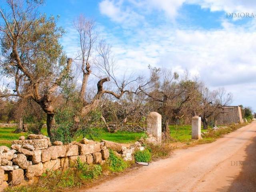
[[105,142],[86,138],[63,145],[50,138],[30,134],[25,139],[13,140],[11,149],[0,146],[0,191],[9,185],[29,184],[35,177],[50,170],[66,169],[77,164],[80,158],[86,164],[104,164],[109,157]]

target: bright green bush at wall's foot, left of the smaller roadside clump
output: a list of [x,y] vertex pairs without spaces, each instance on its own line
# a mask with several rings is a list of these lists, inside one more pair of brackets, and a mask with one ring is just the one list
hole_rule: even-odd
[[112,150],[109,150],[108,164],[112,172],[120,172],[128,167],[128,163],[116,156]]

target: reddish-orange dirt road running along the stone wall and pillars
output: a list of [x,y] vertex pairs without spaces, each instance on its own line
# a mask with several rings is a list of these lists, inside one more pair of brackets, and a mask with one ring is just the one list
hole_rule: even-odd
[[85,191],[256,191],[256,121]]

